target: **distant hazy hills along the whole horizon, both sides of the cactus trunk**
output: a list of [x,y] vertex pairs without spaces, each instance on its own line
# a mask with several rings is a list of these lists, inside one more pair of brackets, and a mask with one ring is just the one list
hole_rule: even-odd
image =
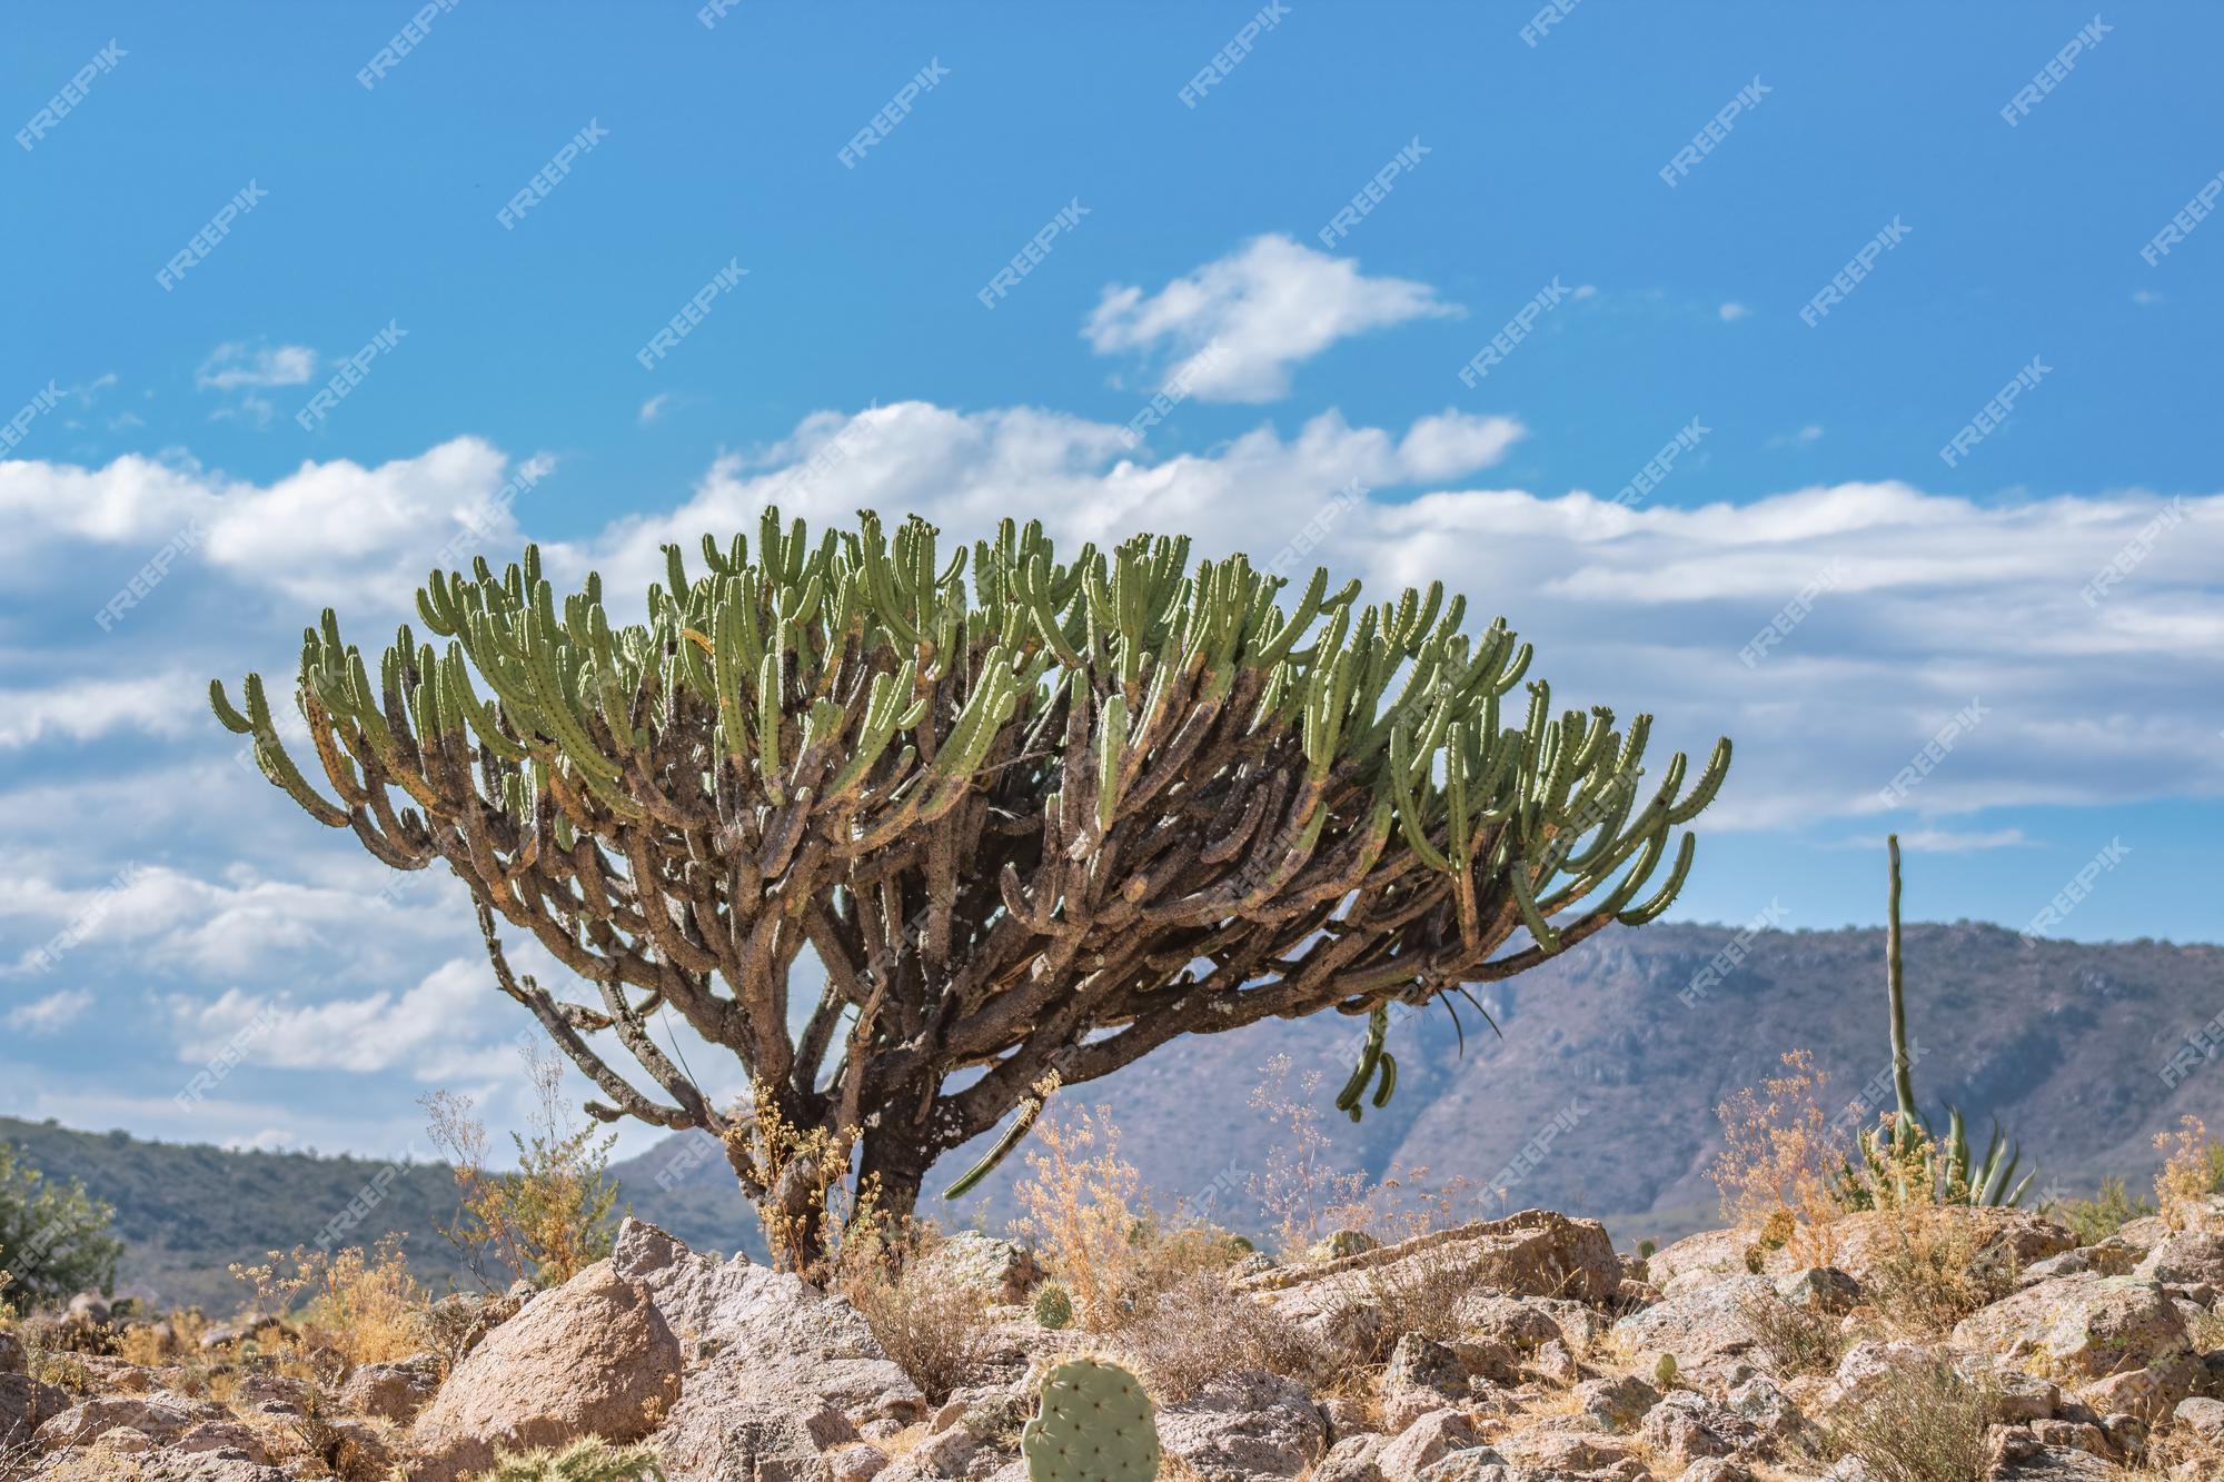
[[[1483,995],[1503,1037],[1468,1012],[1466,1050],[1430,1008],[1392,1028],[1399,1093],[1359,1126],[1323,1124],[1346,1168],[1383,1175],[1421,1164],[1428,1177],[1481,1188],[1515,1166],[1555,1122],[1563,1128],[1517,1175],[1503,1204],[1552,1206],[1608,1222],[1624,1244],[1668,1239],[1715,1219],[1706,1164],[1721,1146],[1715,1106],[1755,1084],[1790,1048],[1813,1050],[1850,1097],[1886,1070],[1884,932],[1757,932],[1744,961],[1706,995],[1684,992],[1739,939],[1721,926],[1648,926],[1601,935]],[[2128,941],[2024,943],[1997,926],[1910,926],[1906,935],[1915,1081],[1926,1108],[1955,1101],[1982,1130],[1995,1117],[2024,1146],[2039,1184],[2084,1195],[2104,1173],[2142,1177],[2151,1139],[2197,1115],[2224,1135],[2224,1064],[2162,1081],[2186,1035],[2224,1010],[2224,948]],[[1250,1197],[1277,1144],[1248,1106],[1259,1068],[1288,1055],[1334,1095],[1350,1068],[1354,1021],[1330,1015],[1270,1021],[1176,1041],[1128,1070],[1065,1093],[1108,1104],[1123,1153],[1163,1202],[1212,1206],[1261,1231]],[[227,1262],[314,1242],[385,1164],[300,1153],[222,1153],[0,1119],[0,1137],[56,1177],[82,1177],[116,1204],[129,1242],[125,1280],[165,1300],[227,1306]],[[979,1148],[943,1159],[954,1177]],[[1001,1228],[1014,1213],[1014,1155],[945,1224]],[[701,1133],[665,1139],[614,1166],[623,1199],[701,1248],[763,1255],[732,1170]],[[369,1244],[407,1231],[434,1286],[460,1280],[436,1222],[454,1211],[447,1168],[416,1164],[351,1235]],[[1475,1213],[1497,1213],[1477,1199]]]

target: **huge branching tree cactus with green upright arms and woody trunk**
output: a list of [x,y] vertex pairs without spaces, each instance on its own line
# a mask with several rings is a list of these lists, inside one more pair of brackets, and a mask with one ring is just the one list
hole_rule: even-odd
[[[665,561],[641,621],[594,574],[558,599],[534,547],[434,572],[380,654],[327,610],[294,701],[329,794],[260,676],[211,701],[309,817],[463,879],[592,1115],[718,1135],[805,1253],[843,1164],[765,1128],[854,1137],[907,1211],[1039,1086],[1265,1017],[1450,1008],[1657,917],[1730,757],[1646,779],[1650,717],[1512,699],[1528,645],[1441,585],[1368,605],[1185,539],[1061,561],[1039,525],[943,550],[774,510]],[[585,995],[512,972],[505,923]],[[747,1108],[652,1035],[665,1010],[738,1057]],[[1366,1059],[1388,1097],[1379,1035]]]

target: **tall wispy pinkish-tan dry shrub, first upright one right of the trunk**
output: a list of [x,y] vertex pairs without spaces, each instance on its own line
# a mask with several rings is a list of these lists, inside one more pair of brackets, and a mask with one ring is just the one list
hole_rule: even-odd
[[1121,1320],[1121,1295],[1148,1228],[1134,1206],[1143,1175],[1119,1155],[1119,1126],[1108,1106],[1045,1117],[1034,1128],[1027,1177],[1016,1195],[1019,1231],[1074,1293],[1083,1326],[1103,1333]]

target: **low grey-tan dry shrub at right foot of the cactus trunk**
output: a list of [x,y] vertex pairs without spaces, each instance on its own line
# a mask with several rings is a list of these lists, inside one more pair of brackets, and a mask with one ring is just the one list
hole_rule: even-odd
[[[872,1228],[872,1237],[865,1231]],[[912,1384],[941,1404],[976,1384],[994,1357],[987,1297],[936,1280],[923,1259],[941,1239],[921,1224],[852,1224],[834,1286]]]

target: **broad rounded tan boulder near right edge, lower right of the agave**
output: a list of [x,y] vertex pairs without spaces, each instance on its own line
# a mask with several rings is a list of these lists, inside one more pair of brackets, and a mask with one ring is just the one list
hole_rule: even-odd
[[2079,1273],[1970,1313],[1953,1340],[2055,1380],[2099,1380],[2182,1351],[2186,1320],[2155,1282]]

